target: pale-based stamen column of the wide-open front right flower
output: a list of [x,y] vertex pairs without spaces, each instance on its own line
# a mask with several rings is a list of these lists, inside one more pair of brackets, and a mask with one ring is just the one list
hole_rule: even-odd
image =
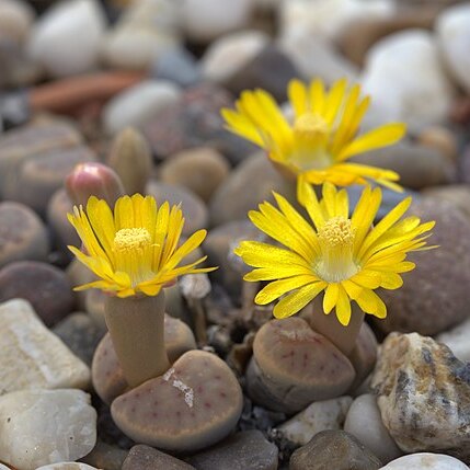
[[348,279],[359,268],[353,260],[355,230],[343,216],[332,217],[318,231],[321,256],[317,274],[329,283]]

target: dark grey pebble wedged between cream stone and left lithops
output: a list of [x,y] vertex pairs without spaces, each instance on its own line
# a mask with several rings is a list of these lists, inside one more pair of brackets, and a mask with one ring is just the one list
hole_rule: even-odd
[[77,357],[91,366],[94,351],[106,330],[100,328],[87,313],[74,312],[57,323],[53,332]]

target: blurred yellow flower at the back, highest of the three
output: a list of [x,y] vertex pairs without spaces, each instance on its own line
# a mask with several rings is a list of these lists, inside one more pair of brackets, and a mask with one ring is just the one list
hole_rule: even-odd
[[229,130],[265,149],[273,162],[298,177],[300,199],[306,182],[348,186],[371,180],[401,191],[393,183],[399,180],[396,172],[348,161],[396,144],[405,133],[404,124],[392,123],[357,136],[370,103],[368,96],[360,99],[358,84],[348,89],[342,79],[326,92],[320,80],[309,87],[291,80],[288,94],[295,113],[293,125],[263,90],[242,92],[237,111],[225,108],[222,116]]

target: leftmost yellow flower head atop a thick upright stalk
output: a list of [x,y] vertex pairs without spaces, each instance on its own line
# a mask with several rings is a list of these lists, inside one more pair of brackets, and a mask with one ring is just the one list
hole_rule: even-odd
[[206,256],[177,266],[184,256],[199,247],[206,230],[198,230],[177,248],[184,225],[180,207],[170,209],[165,202],[158,208],[151,196],[119,197],[114,215],[105,200],[92,196],[87,210],[76,206],[68,219],[88,254],[76,247],[69,249],[100,278],[76,290],[95,287],[118,297],[138,293],[156,296],[177,276],[215,270],[196,268]]

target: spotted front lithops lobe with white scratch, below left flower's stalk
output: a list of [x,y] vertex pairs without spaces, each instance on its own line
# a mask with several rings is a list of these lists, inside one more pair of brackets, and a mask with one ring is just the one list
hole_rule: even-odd
[[226,437],[242,410],[233,372],[216,355],[190,351],[161,377],[113,401],[117,426],[138,443],[194,451]]

